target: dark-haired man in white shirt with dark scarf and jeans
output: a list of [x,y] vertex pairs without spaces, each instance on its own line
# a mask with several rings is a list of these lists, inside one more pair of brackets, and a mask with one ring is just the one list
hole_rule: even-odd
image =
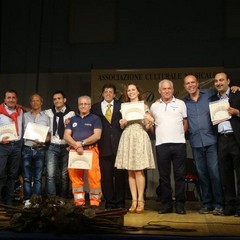
[[[67,143],[63,139],[65,124],[75,115],[66,105],[66,97],[62,91],[53,93],[51,109],[45,110],[51,121],[51,142],[46,155],[47,196],[66,198],[69,190],[68,151]],[[58,177],[60,182],[58,182]],[[57,184],[59,183],[59,184]],[[57,190],[59,185],[59,191]]]

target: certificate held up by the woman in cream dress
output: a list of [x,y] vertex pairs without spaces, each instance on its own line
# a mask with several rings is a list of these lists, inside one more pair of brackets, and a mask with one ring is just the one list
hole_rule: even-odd
[[144,119],[144,101],[122,103],[121,113],[123,118],[125,118],[127,121]]

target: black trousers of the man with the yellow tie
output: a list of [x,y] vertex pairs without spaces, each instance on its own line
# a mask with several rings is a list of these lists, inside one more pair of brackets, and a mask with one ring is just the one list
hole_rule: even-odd
[[125,207],[127,171],[114,167],[115,155],[100,157],[101,187],[106,208]]

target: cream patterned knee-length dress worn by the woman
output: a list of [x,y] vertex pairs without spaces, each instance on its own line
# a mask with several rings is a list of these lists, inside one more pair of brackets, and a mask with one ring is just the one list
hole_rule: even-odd
[[151,140],[142,120],[128,122],[120,138],[115,167],[127,170],[155,168]]

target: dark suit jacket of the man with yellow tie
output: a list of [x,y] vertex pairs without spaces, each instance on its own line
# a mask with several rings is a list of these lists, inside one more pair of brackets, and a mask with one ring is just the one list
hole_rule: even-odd
[[111,124],[102,113],[101,102],[92,105],[91,112],[98,115],[102,121],[102,136],[98,142],[100,157],[116,155],[118,143],[122,134],[119,120],[122,118],[120,112],[121,102],[114,100]]

